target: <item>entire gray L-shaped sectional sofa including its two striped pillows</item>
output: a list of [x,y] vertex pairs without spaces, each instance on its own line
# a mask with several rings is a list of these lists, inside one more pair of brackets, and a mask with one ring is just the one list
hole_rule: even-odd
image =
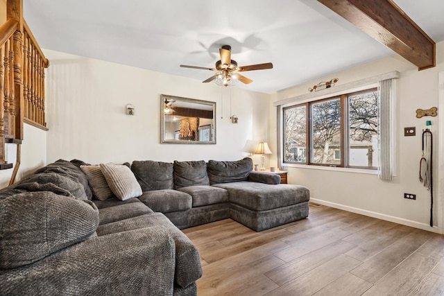
[[261,231],[308,216],[308,189],[252,168],[47,165],[0,190],[0,294],[196,295],[200,257],[180,229],[232,218]]

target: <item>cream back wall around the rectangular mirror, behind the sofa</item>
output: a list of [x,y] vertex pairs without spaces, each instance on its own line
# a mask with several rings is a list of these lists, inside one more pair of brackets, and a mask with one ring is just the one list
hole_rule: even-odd
[[[268,94],[56,51],[44,53],[51,62],[46,69],[48,162],[234,160],[247,155],[242,152],[247,140],[268,139]],[[161,144],[160,94],[215,101],[216,144]],[[125,114],[127,103],[135,105],[135,116]],[[232,114],[239,123],[231,123]]]

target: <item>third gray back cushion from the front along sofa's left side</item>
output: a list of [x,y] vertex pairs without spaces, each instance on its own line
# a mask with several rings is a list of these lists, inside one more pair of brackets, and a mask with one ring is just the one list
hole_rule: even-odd
[[[80,161],[74,160],[74,162],[80,162]],[[86,175],[83,173],[83,171],[80,170],[80,168],[76,164],[72,162],[67,162],[66,160],[63,159],[59,159],[57,162],[53,162],[52,164],[48,164],[47,166],[38,169],[35,173],[37,174],[37,173],[53,172],[66,175],[67,177],[71,178],[73,181],[82,184],[88,200],[92,200],[92,191],[89,188],[88,179]]]

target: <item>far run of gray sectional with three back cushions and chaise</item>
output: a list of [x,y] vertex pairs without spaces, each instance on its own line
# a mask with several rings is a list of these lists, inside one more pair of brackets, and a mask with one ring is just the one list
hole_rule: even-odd
[[180,229],[232,218],[259,232],[308,216],[309,190],[237,162],[135,161],[144,202]]

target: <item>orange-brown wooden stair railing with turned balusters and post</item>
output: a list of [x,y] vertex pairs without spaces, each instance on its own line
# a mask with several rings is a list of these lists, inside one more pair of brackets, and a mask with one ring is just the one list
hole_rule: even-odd
[[0,27],[0,169],[7,164],[5,144],[20,144],[24,122],[47,130],[44,112],[44,68],[49,67],[42,49],[23,18],[23,0],[7,0],[6,23]]

